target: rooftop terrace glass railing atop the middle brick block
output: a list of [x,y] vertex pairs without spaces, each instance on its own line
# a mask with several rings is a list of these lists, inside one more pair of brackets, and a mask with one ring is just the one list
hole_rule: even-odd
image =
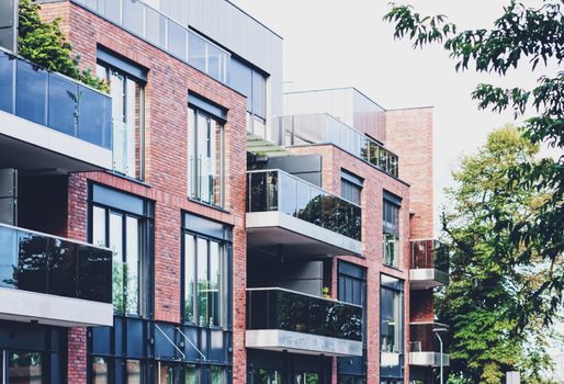
[[398,176],[396,155],[327,113],[277,117],[272,129],[277,145],[332,144],[387,174]]

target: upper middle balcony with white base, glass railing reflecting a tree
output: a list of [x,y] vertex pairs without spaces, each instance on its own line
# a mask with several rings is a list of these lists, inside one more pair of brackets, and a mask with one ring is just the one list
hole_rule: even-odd
[[249,247],[293,256],[361,255],[360,206],[281,170],[247,172]]

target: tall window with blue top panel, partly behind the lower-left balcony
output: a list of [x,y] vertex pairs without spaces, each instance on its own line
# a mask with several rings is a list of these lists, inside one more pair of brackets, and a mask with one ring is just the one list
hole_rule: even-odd
[[[145,316],[148,204],[138,197],[100,185],[93,185],[92,193],[92,242],[113,251],[114,310],[116,314]],[[97,201],[98,196],[100,199]]]

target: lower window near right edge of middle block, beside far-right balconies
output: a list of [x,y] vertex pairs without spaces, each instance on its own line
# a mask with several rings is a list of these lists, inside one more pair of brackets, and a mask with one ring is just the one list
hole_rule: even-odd
[[380,290],[380,347],[382,352],[404,351],[404,283],[385,274]]

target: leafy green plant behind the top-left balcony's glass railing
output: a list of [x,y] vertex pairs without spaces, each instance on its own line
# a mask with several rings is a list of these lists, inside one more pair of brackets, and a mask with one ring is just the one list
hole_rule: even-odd
[[43,22],[41,7],[33,0],[21,0],[19,10],[19,54],[41,68],[66,75],[108,93],[109,84],[91,69],[79,68],[80,56],[72,57],[72,47],[60,30],[60,18]]

